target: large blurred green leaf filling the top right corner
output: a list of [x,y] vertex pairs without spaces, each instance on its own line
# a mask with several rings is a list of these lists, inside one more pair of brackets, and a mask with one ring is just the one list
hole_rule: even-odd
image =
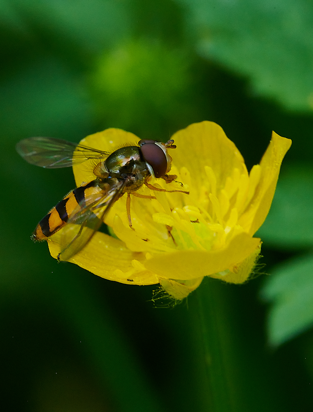
[[292,110],[313,104],[313,3],[176,0],[200,55],[248,76],[256,94]]

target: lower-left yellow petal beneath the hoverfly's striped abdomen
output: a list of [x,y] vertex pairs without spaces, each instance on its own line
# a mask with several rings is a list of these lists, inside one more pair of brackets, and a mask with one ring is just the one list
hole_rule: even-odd
[[[48,239],[53,258],[60,253],[61,234],[62,230]],[[146,253],[132,252],[124,242],[101,232],[96,232],[84,249],[68,261],[112,281],[130,285],[159,283],[158,277],[145,269]]]

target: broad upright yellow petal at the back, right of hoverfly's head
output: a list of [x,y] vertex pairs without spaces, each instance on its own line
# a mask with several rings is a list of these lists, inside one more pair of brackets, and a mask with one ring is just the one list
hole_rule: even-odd
[[[172,138],[177,148],[171,150],[173,164],[180,170],[190,172],[192,187],[196,189],[208,180],[208,171],[213,170],[216,189],[224,188],[227,177],[238,169],[248,175],[245,161],[235,144],[227,138],[221,126],[214,122],[194,123],[176,132]],[[206,167],[208,166],[208,168]]]

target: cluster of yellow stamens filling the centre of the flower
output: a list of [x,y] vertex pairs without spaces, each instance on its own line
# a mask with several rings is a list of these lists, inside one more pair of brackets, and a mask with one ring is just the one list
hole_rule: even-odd
[[[178,175],[175,182],[151,180],[153,186],[166,190],[189,190],[189,194],[154,191],[155,199],[131,198],[132,230],[128,227],[124,205],[119,211],[114,208],[113,230],[128,248],[136,252],[173,252],[174,250],[216,250],[227,240],[243,232],[238,217],[255,194],[261,168],[254,166],[248,174],[234,169],[223,184],[218,183],[213,169],[204,167],[201,187],[193,187],[186,167],[180,171],[172,167],[171,173]],[[182,187],[183,186],[183,187]],[[143,187],[142,194],[152,194]]]

